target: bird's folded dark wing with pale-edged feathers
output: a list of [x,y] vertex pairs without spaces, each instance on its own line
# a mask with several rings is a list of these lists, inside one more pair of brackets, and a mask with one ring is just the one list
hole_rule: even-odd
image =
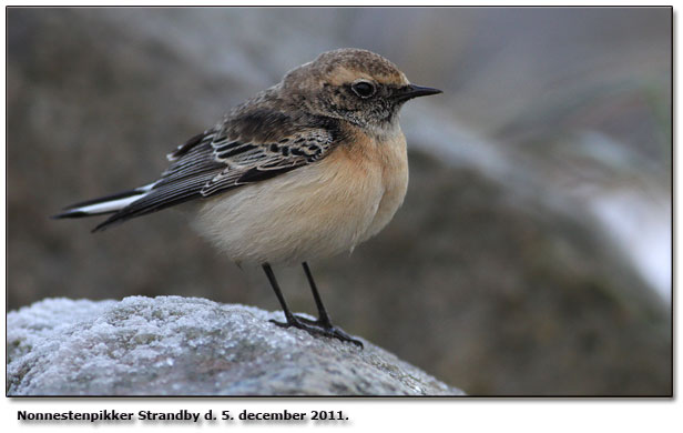
[[334,148],[334,131],[319,127],[294,128],[279,113],[278,124],[264,119],[267,132],[257,128],[258,119],[249,118],[246,127],[239,120],[204,131],[170,153],[171,165],[149,193],[95,230],[271,179],[318,161]]

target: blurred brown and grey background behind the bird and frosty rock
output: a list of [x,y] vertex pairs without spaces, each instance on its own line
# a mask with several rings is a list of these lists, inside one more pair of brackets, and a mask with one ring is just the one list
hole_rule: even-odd
[[[444,94],[401,113],[410,185],[351,256],[312,262],[333,320],[485,395],[672,392],[671,8],[13,9],[8,309],[202,296],[278,310],[164,211],[52,221],[130,189],[231,107],[357,47]],[[315,311],[299,268],[275,268]]]

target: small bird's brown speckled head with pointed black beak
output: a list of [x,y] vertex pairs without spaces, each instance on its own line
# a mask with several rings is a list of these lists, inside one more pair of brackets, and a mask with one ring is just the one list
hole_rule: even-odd
[[441,93],[411,84],[384,57],[351,48],[324,52],[289,71],[282,90],[295,104],[314,114],[374,130],[393,127],[406,101]]

